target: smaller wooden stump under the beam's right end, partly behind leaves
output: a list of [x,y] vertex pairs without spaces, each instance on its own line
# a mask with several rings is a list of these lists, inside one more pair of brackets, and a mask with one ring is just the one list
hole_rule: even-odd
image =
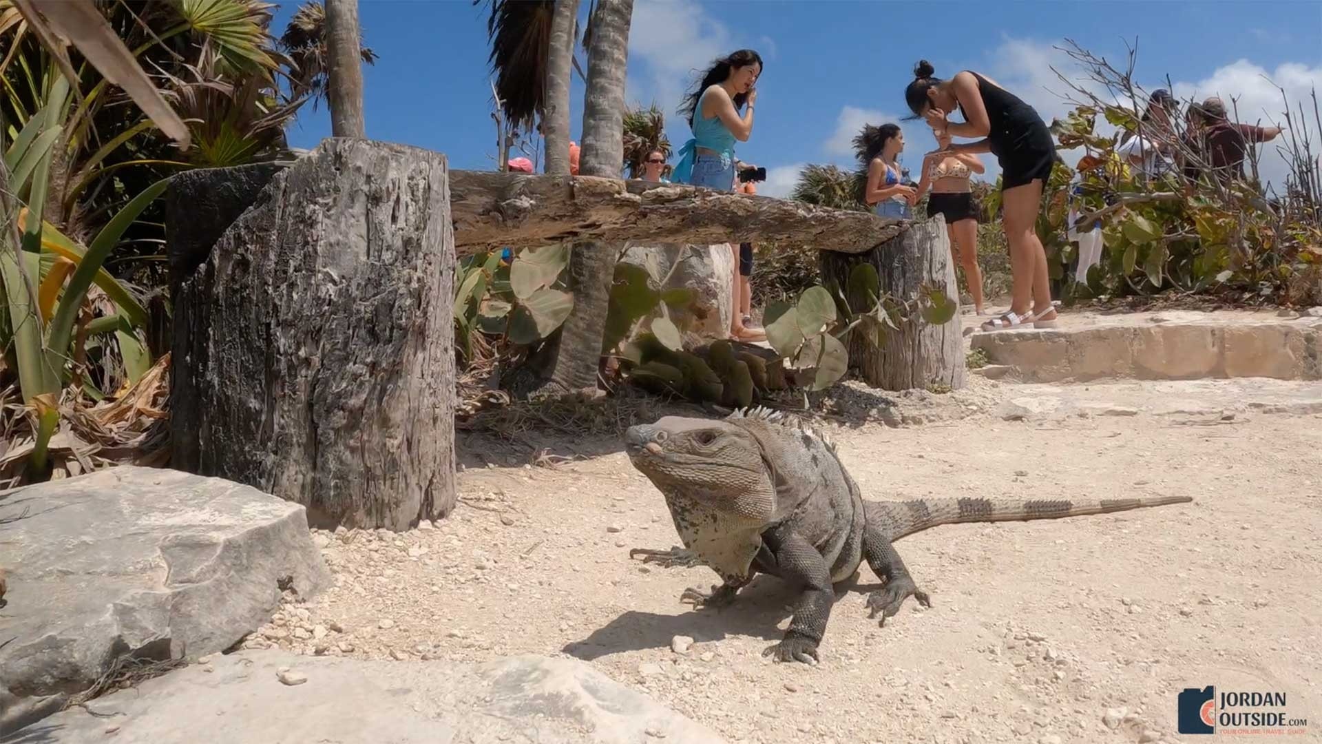
[[[933,217],[915,221],[907,230],[880,248],[866,253],[821,252],[824,281],[849,286],[849,274],[858,263],[871,263],[880,278],[882,294],[890,293],[903,301],[919,297],[923,283],[945,287],[945,293],[958,302],[954,263],[951,259],[951,241],[945,220]],[[849,297],[850,307],[863,307],[865,298]],[[940,326],[915,318],[899,323],[899,330],[887,328],[884,344],[878,347],[867,334],[850,334],[849,363],[857,367],[869,385],[886,391],[911,388],[965,385],[964,336],[960,314]]]

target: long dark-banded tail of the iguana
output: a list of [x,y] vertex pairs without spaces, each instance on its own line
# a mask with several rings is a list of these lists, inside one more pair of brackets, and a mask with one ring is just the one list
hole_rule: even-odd
[[865,502],[869,524],[876,524],[890,541],[939,524],[965,522],[1025,522],[1110,514],[1153,506],[1178,504],[1192,496],[1144,496],[1133,499],[912,499]]

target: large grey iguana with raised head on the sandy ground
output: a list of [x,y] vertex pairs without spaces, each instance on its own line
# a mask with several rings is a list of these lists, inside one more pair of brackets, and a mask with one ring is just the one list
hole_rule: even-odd
[[[758,572],[797,588],[789,629],[764,651],[776,661],[817,663],[836,598],[833,585],[865,560],[884,581],[867,597],[869,617],[880,612],[882,626],[911,594],[932,606],[891,547],[907,535],[939,524],[1060,519],[1192,500],[863,500],[832,442],[765,408],[736,410],[723,420],[666,416],[631,426],[624,442],[633,466],[665,495],[685,548],[723,581],[710,593],[687,589],[681,601],[727,605]],[[676,555],[629,552],[639,553]]]

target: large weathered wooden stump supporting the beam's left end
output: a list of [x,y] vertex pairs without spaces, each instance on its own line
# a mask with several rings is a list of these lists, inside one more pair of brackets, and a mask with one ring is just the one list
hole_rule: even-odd
[[178,289],[173,466],[406,530],[455,504],[446,156],[328,139]]

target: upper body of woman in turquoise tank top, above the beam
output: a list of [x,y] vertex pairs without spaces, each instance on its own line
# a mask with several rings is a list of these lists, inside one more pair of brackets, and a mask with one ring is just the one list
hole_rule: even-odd
[[[740,49],[717,60],[698,87],[685,97],[680,114],[689,119],[693,139],[680,148],[670,179],[720,191],[735,185],[735,140],[748,142],[758,103],[761,57]],[[747,105],[747,111],[739,114]]]

